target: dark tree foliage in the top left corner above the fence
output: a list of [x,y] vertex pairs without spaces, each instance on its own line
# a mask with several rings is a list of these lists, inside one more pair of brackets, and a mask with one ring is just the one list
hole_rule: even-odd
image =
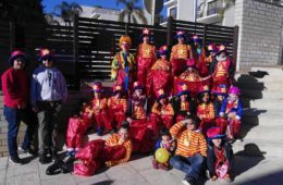
[[1,0],[0,18],[7,21],[45,22],[42,0]]

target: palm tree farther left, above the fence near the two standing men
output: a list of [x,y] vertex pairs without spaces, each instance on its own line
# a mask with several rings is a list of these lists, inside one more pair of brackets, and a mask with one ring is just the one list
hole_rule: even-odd
[[65,25],[69,24],[69,26],[74,21],[74,15],[79,15],[82,12],[83,8],[76,2],[67,3],[66,1],[62,1],[61,4],[56,5],[53,9],[53,14],[61,16]]

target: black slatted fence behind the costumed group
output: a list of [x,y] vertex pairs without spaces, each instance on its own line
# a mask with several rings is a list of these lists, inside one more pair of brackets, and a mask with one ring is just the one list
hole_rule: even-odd
[[[28,70],[38,64],[36,49],[50,48],[56,53],[56,65],[66,76],[70,88],[79,88],[81,79],[110,78],[111,61],[119,51],[121,35],[132,38],[131,51],[135,53],[140,44],[140,32],[148,27],[152,30],[153,45],[172,47],[175,44],[175,30],[182,29],[198,35],[202,45],[225,44],[236,61],[238,27],[206,25],[201,23],[168,18],[167,27],[142,24],[127,24],[114,21],[75,17],[72,26],[47,24],[20,24],[0,22],[0,60],[8,61],[10,51],[23,49],[29,54]],[[8,67],[8,62],[0,63],[0,73]]]

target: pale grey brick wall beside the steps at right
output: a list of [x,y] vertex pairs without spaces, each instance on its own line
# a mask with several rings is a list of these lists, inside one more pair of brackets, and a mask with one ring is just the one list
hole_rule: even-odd
[[258,0],[236,0],[239,26],[237,70],[281,64],[283,7]]

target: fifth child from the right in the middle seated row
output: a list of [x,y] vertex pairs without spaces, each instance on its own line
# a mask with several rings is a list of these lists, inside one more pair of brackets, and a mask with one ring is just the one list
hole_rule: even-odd
[[158,90],[157,101],[151,109],[150,120],[152,121],[152,130],[157,136],[161,125],[170,128],[173,124],[174,110],[168,100],[168,94],[163,89]]

